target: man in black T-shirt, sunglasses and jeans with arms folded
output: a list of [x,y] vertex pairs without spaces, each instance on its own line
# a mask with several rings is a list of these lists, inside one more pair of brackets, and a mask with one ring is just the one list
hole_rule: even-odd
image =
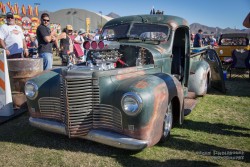
[[50,30],[50,19],[47,13],[41,15],[41,24],[36,30],[38,41],[38,54],[40,58],[43,58],[43,69],[48,70],[52,68],[53,54],[52,45],[56,39],[56,30]]

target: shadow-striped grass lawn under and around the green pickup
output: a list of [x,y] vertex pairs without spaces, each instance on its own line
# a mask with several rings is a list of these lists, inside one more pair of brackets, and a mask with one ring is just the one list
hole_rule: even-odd
[[212,91],[171,138],[141,152],[121,150],[45,132],[28,124],[28,113],[0,125],[0,166],[249,166],[250,81],[226,81]]

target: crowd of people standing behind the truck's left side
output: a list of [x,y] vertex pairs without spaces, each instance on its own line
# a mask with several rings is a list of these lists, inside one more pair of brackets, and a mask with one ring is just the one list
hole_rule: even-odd
[[36,34],[25,35],[22,28],[15,24],[13,13],[6,13],[6,24],[0,27],[0,45],[5,50],[7,59],[42,58],[43,69],[47,70],[52,68],[55,50],[61,57],[62,65],[85,62],[84,41],[97,40],[101,33],[98,31],[92,35],[85,29],[76,31],[72,25],[67,25],[60,34],[57,34],[57,30],[50,29],[49,25],[49,14],[43,13]]

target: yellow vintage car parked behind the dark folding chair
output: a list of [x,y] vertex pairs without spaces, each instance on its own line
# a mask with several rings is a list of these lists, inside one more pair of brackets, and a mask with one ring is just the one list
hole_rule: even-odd
[[221,34],[218,46],[215,47],[217,54],[222,62],[231,58],[235,49],[250,50],[250,33],[227,33]]

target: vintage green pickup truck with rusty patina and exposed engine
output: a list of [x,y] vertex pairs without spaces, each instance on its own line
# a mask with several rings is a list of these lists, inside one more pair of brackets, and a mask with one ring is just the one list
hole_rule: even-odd
[[85,42],[85,64],[26,82],[32,126],[141,150],[165,141],[172,126],[183,123],[195,95],[210,85],[225,91],[218,55],[192,50],[189,25],[180,17],[120,17],[104,25],[102,39]]

